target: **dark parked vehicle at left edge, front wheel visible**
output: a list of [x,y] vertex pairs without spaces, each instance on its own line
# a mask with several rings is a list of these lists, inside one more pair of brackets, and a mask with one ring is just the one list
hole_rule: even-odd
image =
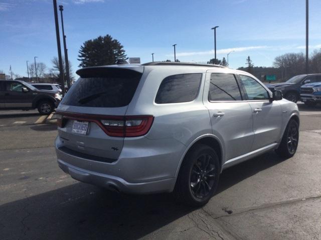
[[20,80],[0,80],[0,109],[29,110],[37,108],[41,114],[50,114],[61,100],[60,93],[38,90]]

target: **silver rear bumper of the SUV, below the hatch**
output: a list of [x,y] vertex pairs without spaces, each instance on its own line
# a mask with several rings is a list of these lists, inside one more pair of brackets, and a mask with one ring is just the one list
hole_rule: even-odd
[[[171,192],[176,182],[176,171],[186,149],[172,139],[138,139],[141,146],[124,143],[121,154],[113,162],[102,162],[90,157],[62,150],[62,141],[56,138],[59,167],[82,182],[126,193]],[[140,144],[139,144],[140,145]]]

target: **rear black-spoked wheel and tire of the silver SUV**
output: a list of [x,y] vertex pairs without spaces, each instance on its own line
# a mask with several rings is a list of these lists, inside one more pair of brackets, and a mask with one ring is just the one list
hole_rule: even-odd
[[220,163],[214,149],[205,144],[195,145],[183,160],[174,189],[175,199],[186,205],[205,205],[216,191],[219,175]]

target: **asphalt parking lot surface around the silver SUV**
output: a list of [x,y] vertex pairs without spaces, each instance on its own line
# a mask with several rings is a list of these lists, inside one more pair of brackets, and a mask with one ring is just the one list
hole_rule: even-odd
[[223,171],[203,208],[125,195],[60,170],[51,119],[0,112],[0,239],[321,239],[321,106],[298,103],[297,153]]

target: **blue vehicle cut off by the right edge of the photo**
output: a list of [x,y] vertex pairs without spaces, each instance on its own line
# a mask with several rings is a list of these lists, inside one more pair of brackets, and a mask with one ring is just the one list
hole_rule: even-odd
[[301,86],[301,100],[309,106],[321,103],[321,81]]

